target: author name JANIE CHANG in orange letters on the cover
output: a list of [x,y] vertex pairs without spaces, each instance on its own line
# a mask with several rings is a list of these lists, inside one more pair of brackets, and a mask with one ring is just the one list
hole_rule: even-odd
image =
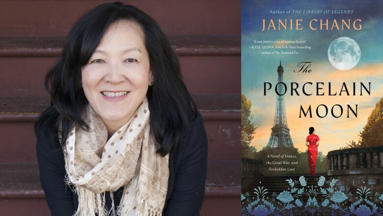
[[[312,19],[308,23],[308,27],[310,30],[361,30],[362,29],[362,20],[356,19],[326,19],[326,20],[318,20],[318,19]],[[302,19],[295,19],[295,20],[263,20],[263,27],[261,31],[280,31],[280,30],[303,30],[302,26]]]

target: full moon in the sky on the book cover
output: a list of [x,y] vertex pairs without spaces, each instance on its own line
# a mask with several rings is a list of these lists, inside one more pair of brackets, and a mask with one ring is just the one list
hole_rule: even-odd
[[339,37],[333,40],[327,51],[328,61],[339,70],[349,70],[360,60],[360,48],[350,37]]

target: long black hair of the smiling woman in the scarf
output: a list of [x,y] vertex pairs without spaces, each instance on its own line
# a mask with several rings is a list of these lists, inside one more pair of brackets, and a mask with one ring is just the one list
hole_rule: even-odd
[[[81,112],[89,103],[80,86],[81,68],[91,58],[108,26],[119,20],[137,23],[144,33],[154,85],[146,97],[150,111],[150,129],[161,147],[161,156],[177,146],[196,118],[197,108],[182,81],[180,64],[169,41],[153,18],[132,5],[121,2],[104,3],[91,9],[73,25],[66,37],[61,56],[45,76],[45,89],[51,95],[51,105],[34,123],[34,133],[47,124],[45,134],[59,149],[57,132],[61,126],[61,146],[64,146],[74,123],[88,130]],[[59,125],[61,123],[61,125]]]

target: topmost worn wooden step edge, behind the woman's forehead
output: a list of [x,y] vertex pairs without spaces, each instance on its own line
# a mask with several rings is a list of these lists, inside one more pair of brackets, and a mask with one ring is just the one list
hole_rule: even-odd
[[[240,56],[237,35],[169,36],[178,56]],[[58,57],[65,37],[0,37],[0,57]]]

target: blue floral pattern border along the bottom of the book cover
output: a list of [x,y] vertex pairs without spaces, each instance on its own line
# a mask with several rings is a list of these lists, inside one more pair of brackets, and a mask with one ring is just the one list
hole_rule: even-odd
[[352,194],[335,190],[338,180],[326,181],[324,176],[317,181],[318,187],[312,185],[305,187],[307,182],[303,176],[299,178],[299,181],[292,179],[286,181],[291,189],[288,187],[279,194],[273,192],[271,200],[266,196],[269,193],[267,188],[259,186],[254,188],[256,199],[251,199],[248,192],[242,193],[241,216],[293,216],[307,213],[334,216],[383,216],[383,208],[377,206],[378,203],[382,204],[383,193],[375,192],[372,195],[370,188],[365,186],[356,189],[356,194]]

